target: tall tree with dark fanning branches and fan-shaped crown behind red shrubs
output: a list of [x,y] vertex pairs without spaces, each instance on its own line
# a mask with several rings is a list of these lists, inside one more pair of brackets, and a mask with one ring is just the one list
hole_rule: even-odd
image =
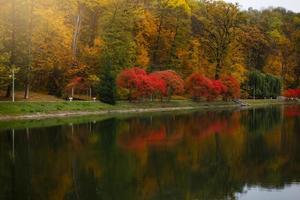
[[235,39],[239,9],[236,4],[224,1],[204,1],[199,4],[193,14],[194,26],[200,26],[204,30],[199,34],[208,56],[215,64],[215,79],[218,80],[229,47]]

